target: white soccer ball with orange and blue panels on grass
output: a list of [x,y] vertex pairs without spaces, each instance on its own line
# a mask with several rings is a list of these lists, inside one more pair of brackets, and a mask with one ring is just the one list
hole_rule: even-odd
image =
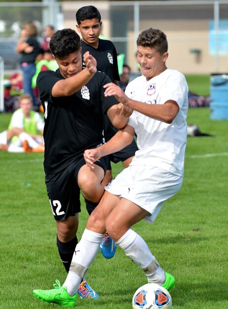
[[171,309],[172,298],[161,285],[147,283],[135,292],[132,307],[133,309]]

